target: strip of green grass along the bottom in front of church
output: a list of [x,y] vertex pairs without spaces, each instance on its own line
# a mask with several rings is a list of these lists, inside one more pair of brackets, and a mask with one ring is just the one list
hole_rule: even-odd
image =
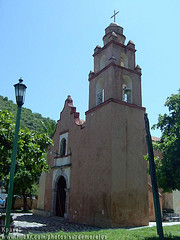
[[[180,225],[164,227],[165,240],[180,240]],[[59,232],[46,234],[28,234],[23,238],[12,237],[10,239],[98,239],[98,240],[153,240],[159,239],[156,228],[141,228],[141,229],[108,229],[93,232]]]

